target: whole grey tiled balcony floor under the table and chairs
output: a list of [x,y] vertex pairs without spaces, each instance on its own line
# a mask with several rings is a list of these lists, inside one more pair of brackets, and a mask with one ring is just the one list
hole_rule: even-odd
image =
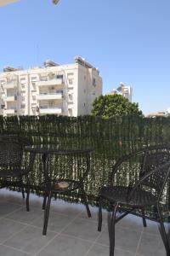
[[[31,211],[17,192],[0,189],[0,256],[109,256],[107,212],[97,231],[97,209],[52,201],[48,234],[42,236],[42,198],[31,195]],[[132,215],[116,224],[115,256],[166,256],[157,224]]]

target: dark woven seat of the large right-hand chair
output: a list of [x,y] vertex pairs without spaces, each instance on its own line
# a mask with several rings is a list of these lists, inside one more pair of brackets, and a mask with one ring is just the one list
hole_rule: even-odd
[[103,187],[100,189],[99,195],[106,200],[111,202],[119,202],[120,204],[126,204],[129,206],[147,206],[156,204],[156,196],[150,192],[138,189],[134,192],[133,198],[128,199],[130,192],[129,187],[114,186],[114,187]]

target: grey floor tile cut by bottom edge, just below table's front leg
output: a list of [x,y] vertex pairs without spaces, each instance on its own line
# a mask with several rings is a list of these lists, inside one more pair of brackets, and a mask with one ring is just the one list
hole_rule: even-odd
[[71,236],[57,236],[38,256],[85,256],[92,243]]

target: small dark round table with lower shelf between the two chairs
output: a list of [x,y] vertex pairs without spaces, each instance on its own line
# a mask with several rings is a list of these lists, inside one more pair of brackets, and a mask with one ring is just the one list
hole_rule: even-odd
[[[90,171],[90,153],[93,149],[80,149],[80,150],[65,150],[65,151],[60,151],[56,152],[55,154],[60,154],[60,155],[69,155],[72,159],[74,160],[80,160],[81,158],[84,158],[86,161],[86,164],[83,164],[85,171],[81,172],[80,170],[77,170],[78,168],[76,167],[74,169],[73,176],[75,178],[50,178],[48,176],[48,171],[46,170],[45,173],[45,193],[44,193],[44,200],[43,200],[43,205],[42,209],[45,210],[44,212],[44,222],[43,222],[43,230],[42,230],[42,235],[47,234],[47,228],[48,228],[48,216],[49,216],[49,209],[50,209],[50,203],[51,203],[51,198],[52,195],[59,194],[59,195],[71,195],[71,193],[75,190],[78,190],[79,193],[82,195],[82,201],[85,204],[87,213],[88,213],[88,218],[91,217],[91,212],[88,207],[88,198],[86,195],[86,192],[84,190],[84,179],[88,176],[88,172]],[[59,151],[59,150],[58,150]],[[46,162],[46,167],[47,166]],[[77,163],[75,161],[75,166],[77,166]],[[48,168],[47,168],[48,169]],[[47,201],[48,199],[48,201]],[[47,201],[47,203],[46,203]]]

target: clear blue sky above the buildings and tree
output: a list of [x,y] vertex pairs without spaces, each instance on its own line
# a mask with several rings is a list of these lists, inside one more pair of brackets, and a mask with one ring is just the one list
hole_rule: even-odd
[[81,55],[99,67],[103,93],[133,86],[144,113],[170,107],[169,0],[20,0],[0,8],[0,70]]

